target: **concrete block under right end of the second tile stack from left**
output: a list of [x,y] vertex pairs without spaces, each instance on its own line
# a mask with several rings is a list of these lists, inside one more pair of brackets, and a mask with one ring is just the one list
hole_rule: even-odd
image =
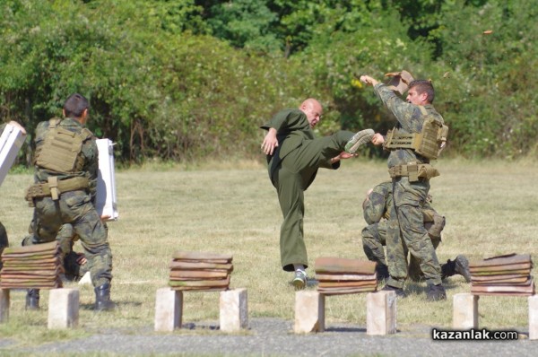
[[238,332],[248,327],[247,289],[221,292],[219,306],[221,331]]

